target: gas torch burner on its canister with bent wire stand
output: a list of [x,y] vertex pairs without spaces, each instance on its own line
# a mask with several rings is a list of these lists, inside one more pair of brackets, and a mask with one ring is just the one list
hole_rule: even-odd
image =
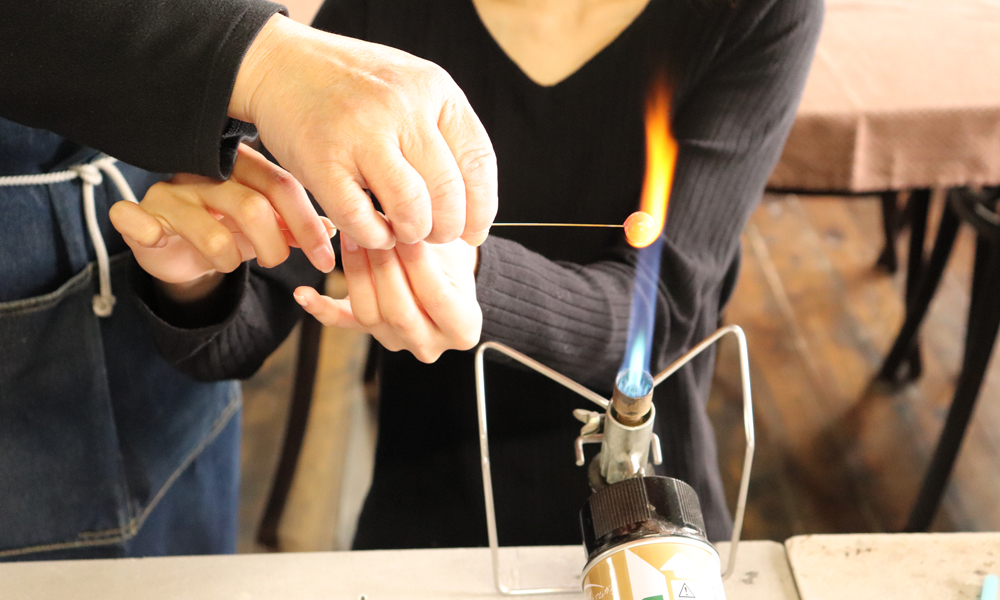
[[[701,505],[687,483],[653,473],[649,464],[662,462],[660,440],[653,427],[656,406],[653,390],[695,356],[732,334],[739,344],[740,383],[743,391],[743,423],[746,452],[733,523],[733,536],[725,570],[718,552],[708,542]],[[511,589],[501,577],[496,511],[490,474],[489,439],[486,427],[486,381],[484,354],[494,350],[576,392],[603,409],[573,411],[583,422],[575,442],[576,464],[586,461],[583,446],[599,443],[600,453],[588,469],[594,494],[580,512],[588,562],[582,587],[589,598],[617,600],[623,586],[637,599],[725,598],[722,579],[733,572],[743,528],[750,469],[754,452],[753,402],[746,336],[736,325],[719,329],[655,377],[647,372],[622,371],[609,401],[572,379],[520,352],[485,342],[476,351],[476,400],[479,410],[479,448],[482,459],[486,525],[496,589],[507,596],[578,593],[580,588]],[[662,565],[662,566],[660,566]],[[720,577],[721,571],[721,577]],[[619,580],[622,572],[627,579]],[[686,587],[685,587],[686,586]],[[599,590],[599,591],[595,591]]]

